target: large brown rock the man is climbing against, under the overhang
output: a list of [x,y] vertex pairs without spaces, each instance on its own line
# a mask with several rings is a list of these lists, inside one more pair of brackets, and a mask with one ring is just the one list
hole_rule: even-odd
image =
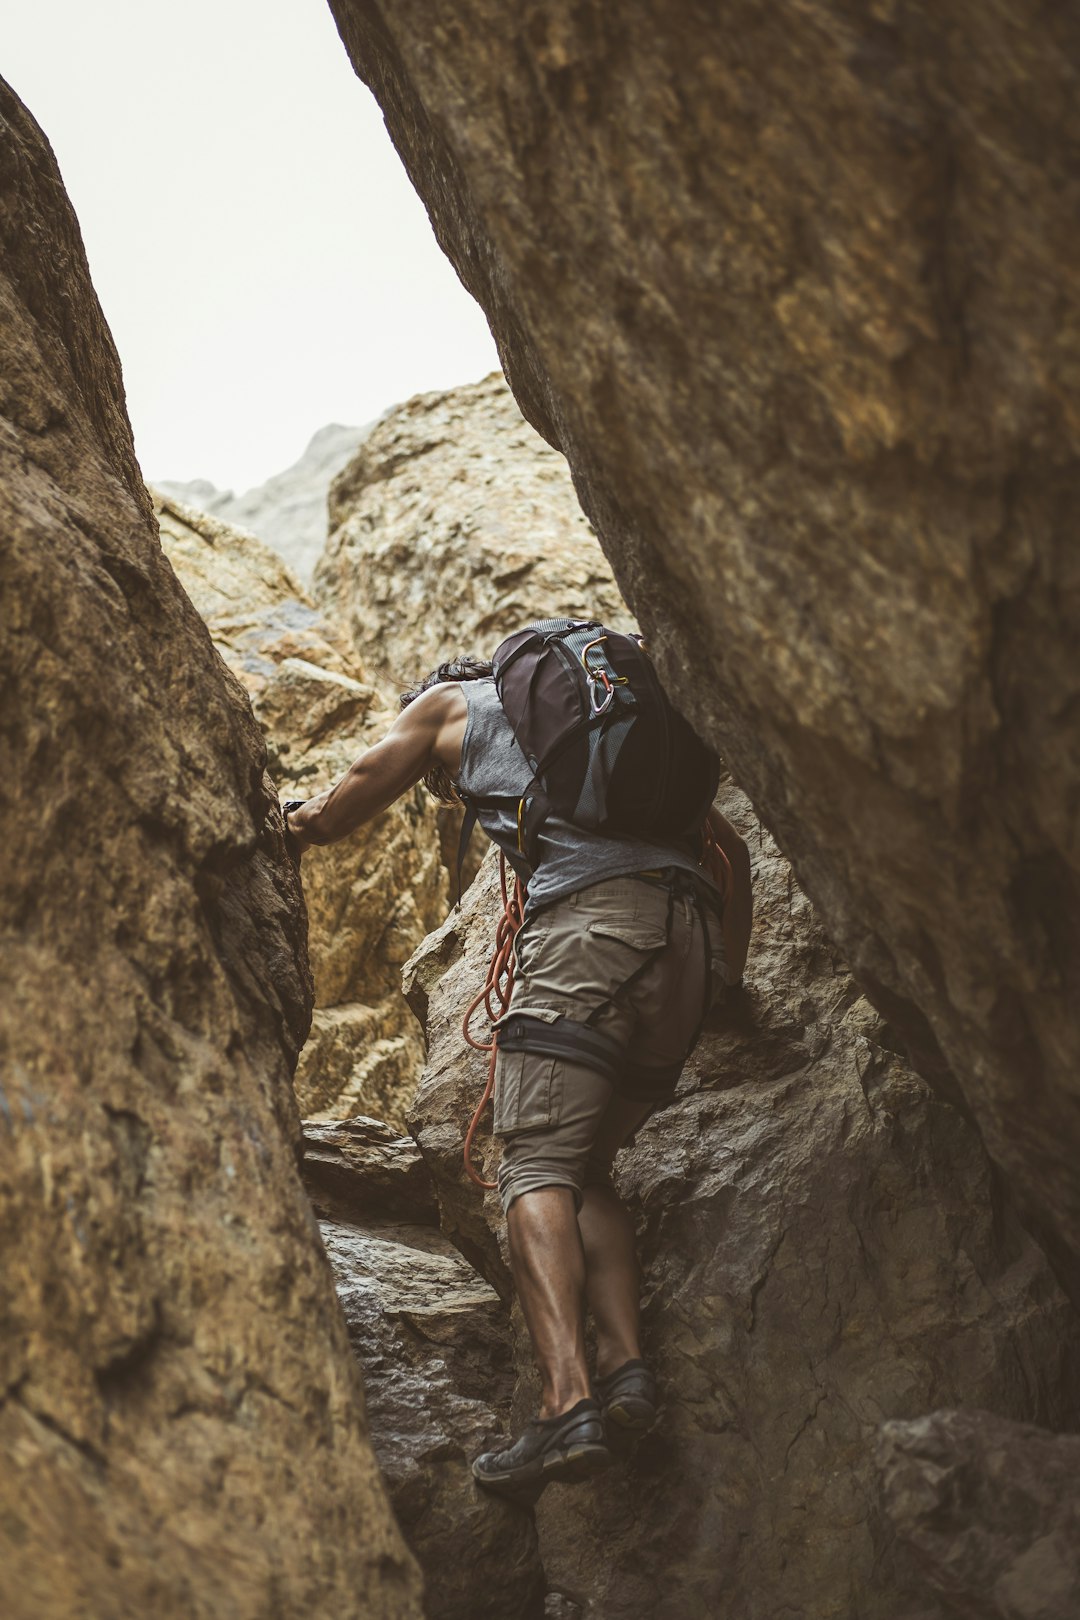
[[[622,1471],[544,1494],[544,1571],[593,1620],[910,1620],[873,1510],[878,1426],[957,1403],[1067,1422],[1080,1335],[976,1132],[899,1056],[746,800],[722,804],[753,852],[748,1009],[714,1014],[617,1165],[664,1408]],[[494,906],[492,865],[406,969],[429,1038],[410,1123],[444,1230],[505,1293],[494,1194],[461,1170],[484,1063],[458,1021]],[[523,1338],[518,1359],[521,1419]]]

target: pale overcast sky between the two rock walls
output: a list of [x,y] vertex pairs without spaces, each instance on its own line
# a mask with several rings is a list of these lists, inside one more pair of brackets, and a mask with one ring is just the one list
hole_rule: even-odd
[[15,0],[147,480],[236,491],[497,366],[324,0]]

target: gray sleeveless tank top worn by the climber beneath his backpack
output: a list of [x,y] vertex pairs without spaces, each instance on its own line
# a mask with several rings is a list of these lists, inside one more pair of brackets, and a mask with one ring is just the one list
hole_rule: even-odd
[[[487,836],[504,847],[513,847],[518,836],[518,800],[528,791],[533,773],[502,711],[495,682],[463,680],[461,692],[468,703],[468,721],[458,787],[476,804],[476,820]],[[554,815],[544,823],[539,850],[539,863],[529,878],[526,912],[604,878],[623,878],[657,867],[680,867],[716,888],[706,870],[685,850],[669,844],[646,844],[636,838],[604,838]]]

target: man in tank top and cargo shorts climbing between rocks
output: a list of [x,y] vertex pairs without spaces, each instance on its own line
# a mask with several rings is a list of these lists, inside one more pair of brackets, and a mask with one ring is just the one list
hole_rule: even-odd
[[[588,653],[585,667],[593,674]],[[504,850],[520,852],[521,808],[536,773],[492,664],[442,664],[402,697],[402,706],[382,742],[342,781],[288,807],[298,849],[347,838],[423,779],[444,802],[471,805]],[[708,797],[714,789],[712,776]],[[612,1445],[656,1418],[656,1385],[640,1343],[633,1223],[610,1170],[643,1121],[672,1100],[714,985],[742,980],[750,857],[716,808],[708,810],[708,828],[722,850],[711,865],[701,862],[699,839],[602,836],[551,808],[533,839],[517,978],[497,1053],[495,1134],[510,1264],[541,1405],[512,1445],[473,1464],[481,1486],[508,1497],[534,1500],[554,1479],[597,1473],[610,1463]],[[515,863],[521,870],[520,854]],[[596,1328],[594,1380],[585,1304]]]

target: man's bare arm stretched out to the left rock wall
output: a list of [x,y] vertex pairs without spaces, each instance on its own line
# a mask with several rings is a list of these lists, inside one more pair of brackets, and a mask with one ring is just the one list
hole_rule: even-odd
[[453,688],[432,687],[398,714],[381,742],[355,760],[345,776],[288,818],[301,849],[335,844],[371,821],[421,779],[432,763],[452,708]]

